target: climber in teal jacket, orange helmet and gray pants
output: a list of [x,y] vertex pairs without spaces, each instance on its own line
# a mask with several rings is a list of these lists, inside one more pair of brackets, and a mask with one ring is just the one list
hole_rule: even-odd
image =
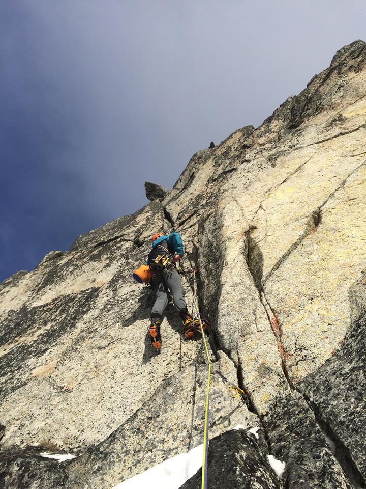
[[149,327],[151,344],[154,348],[160,348],[162,344],[160,325],[163,313],[168,304],[168,290],[173,296],[173,303],[184,324],[185,337],[194,336],[197,328],[197,319],[193,319],[188,313],[184,290],[180,281],[176,263],[183,256],[183,242],[179,233],[171,233],[169,236],[156,233],[151,237],[153,249],[150,251],[146,263],[153,272],[155,304],[151,310],[151,324]]

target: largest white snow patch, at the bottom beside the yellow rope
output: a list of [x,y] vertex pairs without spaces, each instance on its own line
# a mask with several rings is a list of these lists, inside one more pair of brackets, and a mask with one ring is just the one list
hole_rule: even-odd
[[202,467],[203,445],[164,460],[161,464],[124,480],[113,489],[179,489]]

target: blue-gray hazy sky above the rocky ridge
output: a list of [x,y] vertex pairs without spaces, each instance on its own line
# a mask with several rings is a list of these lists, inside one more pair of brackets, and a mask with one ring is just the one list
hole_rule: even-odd
[[364,0],[1,0],[0,282],[366,40]]

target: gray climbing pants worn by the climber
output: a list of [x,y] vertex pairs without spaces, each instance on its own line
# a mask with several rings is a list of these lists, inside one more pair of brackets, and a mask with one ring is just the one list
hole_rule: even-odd
[[185,293],[180,277],[175,268],[160,272],[161,282],[155,284],[155,304],[151,310],[151,321],[162,321],[164,310],[168,305],[168,290],[173,296],[173,303],[179,313],[187,312]]

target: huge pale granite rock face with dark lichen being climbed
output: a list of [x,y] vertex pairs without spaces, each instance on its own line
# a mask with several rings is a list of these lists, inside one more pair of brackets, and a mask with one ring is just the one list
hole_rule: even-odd
[[[171,191],[151,184],[144,208],[0,284],[1,483],[112,487],[202,443],[202,341],[170,304],[153,351],[154,298],[131,276],[174,230],[189,308],[198,268],[211,324],[210,470],[224,457],[248,487],[365,487],[365,136],[355,41],[259,128],[193,155]],[[286,462],[278,481],[267,453]]]

